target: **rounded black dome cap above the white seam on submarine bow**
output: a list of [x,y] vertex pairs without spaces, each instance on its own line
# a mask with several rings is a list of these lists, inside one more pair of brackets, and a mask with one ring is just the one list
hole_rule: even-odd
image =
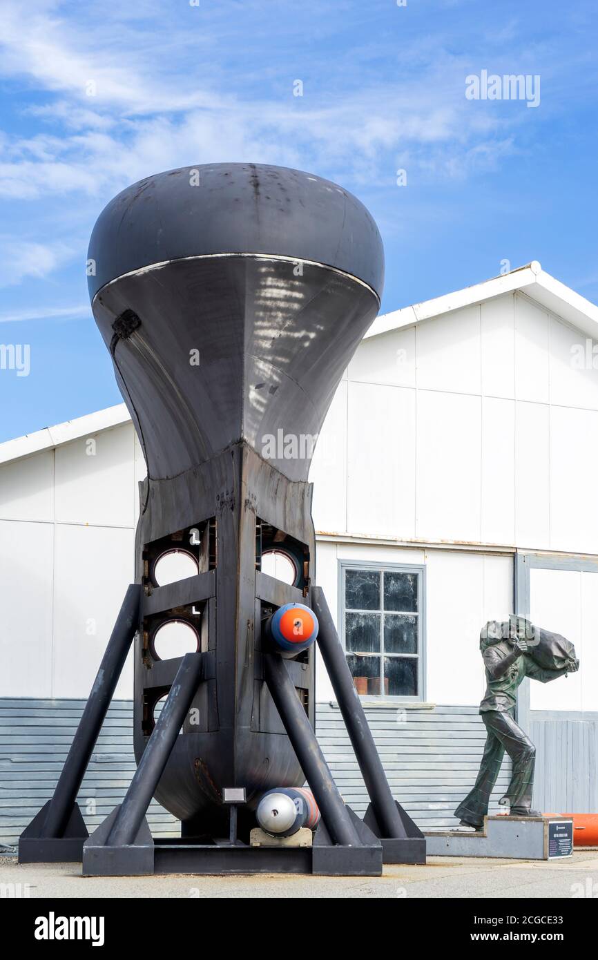
[[139,180],[107,204],[89,241],[90,300],[119,276],[218,253],[309,260],[382,296],[382,240],[347,190],[287,167],[205,163]]

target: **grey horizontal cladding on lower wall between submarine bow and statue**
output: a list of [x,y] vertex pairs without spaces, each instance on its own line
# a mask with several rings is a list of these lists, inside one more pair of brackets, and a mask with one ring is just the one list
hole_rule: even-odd
[[[455,827],[453,810],[473,786],[486,742],[478,708],[365,709],[396,800],[422,829]],[[316,732],[344,799],[363,816],[368,795],[336,704],[317,705]],[[506,757],[490,811],[498,810],[510,772]]]

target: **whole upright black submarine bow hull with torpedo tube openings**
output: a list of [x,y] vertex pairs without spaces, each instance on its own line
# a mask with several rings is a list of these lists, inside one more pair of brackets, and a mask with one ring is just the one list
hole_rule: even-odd
[[[362,204],[328,181],[218,164],[124,191],[89,249],[93,313],[148,468],[140,484],[134,750],[180,664],[157,631],[192,629],[201,681],[155,789],[187,836],[219,835],[223,791],[248,810],[305,778],[264,679],[268,618],[310,603],[315,581],[314,445],[347,363],[373,321],[383,258]],[[182,551],[196,572],[162,584]],[[295,571],[262,570],[273,551]],[[194,640],[194,643],[196,642]],[[312,726],[313,646],[285,660]]]

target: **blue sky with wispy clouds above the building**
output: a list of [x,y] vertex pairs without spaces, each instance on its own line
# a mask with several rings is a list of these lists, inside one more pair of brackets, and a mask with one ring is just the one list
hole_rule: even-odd
[[[505,259],[598,300],[595,0],[406,3],[0,0],[0,345],[31,357],[28,376],[0,370],[0,441],[120,402],[87,241],[160,170],[342,183],[382,232],[385,311]],[[538,75],[538,107],[466,99],[482,70]]]

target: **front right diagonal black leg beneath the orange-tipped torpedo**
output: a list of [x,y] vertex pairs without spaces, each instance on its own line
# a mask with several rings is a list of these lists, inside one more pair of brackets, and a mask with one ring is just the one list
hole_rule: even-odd
[[332,842],[346,847],[358,846],[360,839],[357,831],[328,770],[320,744],[305,709],[299,702],[284,660],[277,654],[266,654],[264,670],[276,709],[320,807]]

